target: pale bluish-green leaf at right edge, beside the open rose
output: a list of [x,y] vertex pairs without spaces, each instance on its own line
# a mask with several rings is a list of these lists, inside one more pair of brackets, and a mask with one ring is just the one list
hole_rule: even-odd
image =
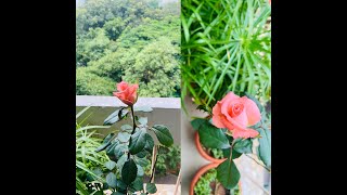
[[266,128],[256,129],[259,133],[259,158],[267,166],[271,167],[271,131]]

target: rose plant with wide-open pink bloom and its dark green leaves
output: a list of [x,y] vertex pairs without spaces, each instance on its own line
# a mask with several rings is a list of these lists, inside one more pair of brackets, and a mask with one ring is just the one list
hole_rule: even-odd
[[[191,123],[197,130],[202,145],[221,150],[227,157],[219,160],[216,168],[217,180],[226,188],[237,185],[240,172],[234,159],[243,154],[256,153],[259,158],[256,161],[271,171],[270,117],[259,101],[247,93],[239,96],[228,92],[209,110],[206,118],[195,118]],[[254,150],[255,140],[259,144]]]

